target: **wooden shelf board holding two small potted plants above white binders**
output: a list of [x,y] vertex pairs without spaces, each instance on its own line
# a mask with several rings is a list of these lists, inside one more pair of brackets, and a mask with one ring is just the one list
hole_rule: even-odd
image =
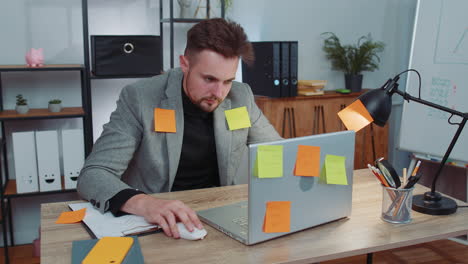
[[85,112],[82,107],[64,107],[62,111],[58,113],[49,112],[46,108],[29,109],[29,112],[26,114],[18,114],[16,110],[5,110],[0,111],[0,120],[84,116],[84,114]]

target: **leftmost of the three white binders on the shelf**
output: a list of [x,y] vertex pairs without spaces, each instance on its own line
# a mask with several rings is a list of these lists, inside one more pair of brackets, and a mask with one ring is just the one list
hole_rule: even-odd
[[15,163],[16,192],[39,191],[34,132],[14,132],[13,157]]

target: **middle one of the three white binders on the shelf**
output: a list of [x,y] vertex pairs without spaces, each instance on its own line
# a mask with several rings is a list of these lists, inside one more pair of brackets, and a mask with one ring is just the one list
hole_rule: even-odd
[[62,189],[57,131],[36,131],[37,169],[41,192]]

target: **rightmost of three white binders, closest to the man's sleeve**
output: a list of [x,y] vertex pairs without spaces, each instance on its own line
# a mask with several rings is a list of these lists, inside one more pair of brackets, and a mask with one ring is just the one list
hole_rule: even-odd
[[83,130],[62,130],[62,150],[65,189],[75,189],[78,176],[84,164]]

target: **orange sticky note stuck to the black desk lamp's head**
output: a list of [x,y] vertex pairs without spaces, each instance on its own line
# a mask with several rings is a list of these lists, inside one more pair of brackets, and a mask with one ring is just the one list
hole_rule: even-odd
[[348,130],[356,132],[374,122],[374,119],[361,100],[354,101],[348,107],[338,112],[338,116]]

